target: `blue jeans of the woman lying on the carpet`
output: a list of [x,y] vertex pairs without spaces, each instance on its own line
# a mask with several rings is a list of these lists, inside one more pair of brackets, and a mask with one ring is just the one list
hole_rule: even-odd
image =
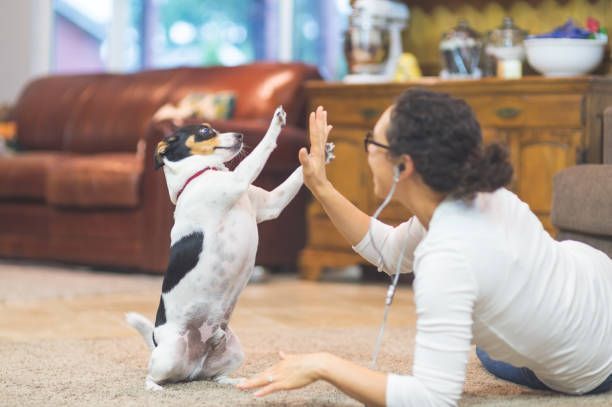
[[[550,390],[555,391],[542,383],[536,375],[526,367],[514,367],[506,362],[500,362],[493,360],[489,357],[489,354],[480,348],[476,348],[476,355],[482,362],[485,369],[489,371],[493,376],[499,377],[500,379],[507,380],[512,383],[527,386],[536,390]],[[597,394],[604,393],[612,389],[612,375],[610,375],[602,384],[594,388],[585,394]]]

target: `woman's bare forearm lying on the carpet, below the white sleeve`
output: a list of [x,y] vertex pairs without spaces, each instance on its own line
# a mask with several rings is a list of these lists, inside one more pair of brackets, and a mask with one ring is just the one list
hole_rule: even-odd
[[325,354],[320,378],[367,406],[384,406],[387,374],[370,370],[332,354]]

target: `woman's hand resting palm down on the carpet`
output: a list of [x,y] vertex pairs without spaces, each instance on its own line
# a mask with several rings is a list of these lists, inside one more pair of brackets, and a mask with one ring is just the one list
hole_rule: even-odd
[[240,389],[260,388],[256,397],[279,390],[299,389],[322,378],[321,372],[328,354],[309,353],[286,355],[279,352],[281,361],[238,385]]

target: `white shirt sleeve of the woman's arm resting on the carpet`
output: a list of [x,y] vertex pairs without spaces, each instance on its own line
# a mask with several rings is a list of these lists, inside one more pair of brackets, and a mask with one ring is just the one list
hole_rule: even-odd
[[412,376],[389,374],[388,406],[455,406],[471,350],[477,286],[461,253],[419,254],[414,295],[417,334]]

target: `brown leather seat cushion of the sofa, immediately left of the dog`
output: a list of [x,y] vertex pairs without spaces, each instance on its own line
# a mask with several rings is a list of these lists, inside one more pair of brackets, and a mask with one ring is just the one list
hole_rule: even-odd
[[81,208],[136,207],[142,172],[140,154],[70,156],[49,174],[47,202]]

